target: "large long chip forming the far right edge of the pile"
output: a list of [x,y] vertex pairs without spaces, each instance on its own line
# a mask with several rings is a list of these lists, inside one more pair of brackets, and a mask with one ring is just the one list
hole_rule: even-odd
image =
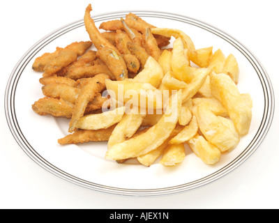
[[211,93],[218,98],[227,109],[229,118],[232,119],[240,135],[247,134],[252,119],[252,109],[237,89],[236,84],[228,75],[210,75]]

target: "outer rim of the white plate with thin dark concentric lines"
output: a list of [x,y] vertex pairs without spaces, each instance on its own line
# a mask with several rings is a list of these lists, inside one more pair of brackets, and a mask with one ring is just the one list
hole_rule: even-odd
[[[197,187],[201,187],[203,185],[207,185],[219,178],[229,174],[229,172],[233,171],[237,167],[239,167],[243,162],[245,162],[252,153],[254,153],[257,148],[259,148],[260,144],[266,137],[266,134],[269,132],[269,128],[271,127],[271,123],[273,121],[273,114],[275,109],[275,98],[273,92],[273,86],[269,79],[269,75],[267,74],[266,70],[259,62],[259,60],[255,57],[255,55],[250,52],[243,44],[241,44],[238,40],[230,36],[229,34],[225,33],[221,29],[217,29],[215,26],[211,24],[207,24],[206,22],[202,22],[200,20],[193,19],[191,17],[187,17],[185,15],[179,15],[176,13],[166,13],[163,11],[157,10],[121,10],[115,11],[110,13],[103,13],[98,15],[91,16],[93,20],[96,22],[101,22],[103,20],[112,20],[114,17],[119,18],[120,15],[126,15],[127,13],[135,13],[140,17],[164,17],[169,20],[179,20],[180,22],[186,22],[187,24],[198,26],[199,28],[205,29],[206,31],[211,31],[211,33],[223,38],[228,43],[232,44],[236,49],[238,49],[245,57],[250,61],[252,67],[257,72],[259,80],[261,84],[265,84],[263,86],[264,89],[264,104],[265,110],[262,119],[262,123],[259,126],[259,130],[255,134],[255,137],[252,139],[250,144],[243,150],[241,153],[242,155],[238,155],[232,162],[225,165],[218,169],[218,171],[213,172],[203,178],[199,178],[197,180],[193,180],[188,183],[184,183],[181,185],[175,185],[170,187],[162,187],[156,189],[129,189],[129,188],[122,188],[122,187],[111,187],[107,185],[100,185],[98,183],[89,182],[87,180],[83,180],[81,178],[77,178],[71,174],[66,173],[65,171],[55,167],[50,162],[47,162],[43,157],[41,157],[36,150],[32,148],[32,146],[28,143],[27,139],[25,139],[24,134],[20,131],[20,126],[17,124],[17,119],[15,115],[15,91],[17,82],[20,79],[20,71],[23,72],[24,68],[29,64],[29,61],[37,54],[40,49],[45,47],[45,45],[51,43],[59,36],[71,31],[73,29],[77,29],[80,26],[84,26],[84,20],[77,20],[75,22],[70,22],[65,26],[61,26],[60,28],[52,31],[51,33],[47,34],[45,37],[38,40],[32,47],[30,47],[27,52],[21,57],[21,59],[17,62],[13,71],[10,74],[8,79],[8,83],[6,84],[6,91],[5,91],[5,100],[4,100],[4,107],[5,107],[5,114],[6,114],[6,121],[8,122],[8,127],[10,132],[13,134],[15,141],[17,144],[22,148],[22,150],[40,167],[46,169],[50,173],[59,176],[64,180],[69,181],[70,183],[74,183],[75,185],[80,185],[82,187],[89,188],[91,190],[95,190],[98,192],[105,192],[109,194],[119,194],[119,195],[129,195],[129,196],[155,196],[155,195],[163,195],[163,194],[174,194],[178,192],[184,192],[187,190],[192,190]],[[248,57],[247,57],[248,56]],[[257,68],[257,69],[256,69]],[[262,76],[260,76],[262,75]],[[265,87],[265,88],[264,88]],[[14,93],[14,94],[13,94]],[[266,105],[267,103],[267,105]],[[267,108],[267,109],[266,109]],[[252,143],[254,141],[254,143]],[[225,170],[224,170],[225,169]]]

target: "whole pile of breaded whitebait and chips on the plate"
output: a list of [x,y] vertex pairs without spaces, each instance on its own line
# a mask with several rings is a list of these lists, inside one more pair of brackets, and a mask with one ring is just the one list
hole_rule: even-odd
[[32,64],[42,72],[43,94],[33,112],[68,120],[59,144],[105,141],[107,160],[166,168],[191,153],[213,165],[236,148],[250,129],[252,98],[239,92],[233,54],[196,49],[190,33],[134,13],[97,28],[91,10],[84,13],[90,40],[56,47]]

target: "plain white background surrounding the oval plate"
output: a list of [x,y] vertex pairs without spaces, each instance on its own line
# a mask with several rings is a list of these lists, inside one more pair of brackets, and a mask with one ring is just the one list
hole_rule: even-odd
[[[13,139],[3,108],[8,77],[40,38],[93,12],[159,10],[193,17],[243,43],[268,72],[278,98],[277,1],[1,1],[0,208],[279,208],[278,114],[261,146],[209,185],[163,197],[122,197],[88,190],[33,162]],[[28,86],[27,86],[28,87]],[[276,109],[277,109],[276,105]],[[43,126],[42,126],[43,128]]]

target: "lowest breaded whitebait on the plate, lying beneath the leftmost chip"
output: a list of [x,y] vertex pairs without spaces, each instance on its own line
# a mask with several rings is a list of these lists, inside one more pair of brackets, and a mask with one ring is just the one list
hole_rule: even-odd
[[75,130],[73,134],[68,134],[66,137],[58,139],[58,143],[65,144],[83,144],[89,141],[108,141],[116,124],[110,128],[100,130]]

